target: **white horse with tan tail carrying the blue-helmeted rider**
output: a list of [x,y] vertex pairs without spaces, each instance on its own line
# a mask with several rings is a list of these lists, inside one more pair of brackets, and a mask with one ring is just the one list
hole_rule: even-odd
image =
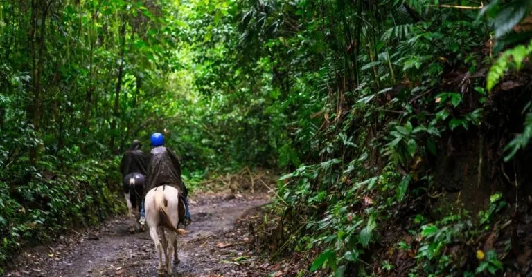
[[[164,275],[163,256],[166,260],[166,272],[172,274],[172,254],[174,254],[175,262],[179,263],[177,256],[177,235],[184,235],[183,229],[177,229],[179,222],[179,191],[171,186],[154,187],[148,191],[145,198],[145,216],[146,224],[150,228],[150,236],[155,242],[155,249],[159,254],[159,276]],[[159,240],[157,229],[162,231],[162,245]],[[166,241],[164,229],[169,233],[169,242]]]

